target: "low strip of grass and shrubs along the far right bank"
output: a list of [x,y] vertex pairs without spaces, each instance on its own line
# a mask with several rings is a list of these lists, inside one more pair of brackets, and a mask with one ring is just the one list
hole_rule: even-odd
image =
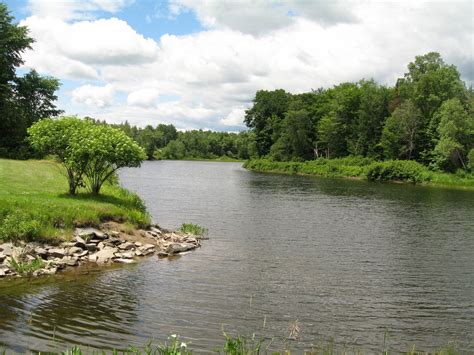
[[409,182],[474,190],[473,174],[434,172],[414,161],[377,162],[362,157],[320,158],[305,162],[277,162],[269,159],[254,159],[247,161],[244,167],[257,172]]

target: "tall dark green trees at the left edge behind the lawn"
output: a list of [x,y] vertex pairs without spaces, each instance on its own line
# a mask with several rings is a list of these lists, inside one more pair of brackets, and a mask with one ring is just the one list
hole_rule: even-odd
[[28,29],[13,23],[7,7],[0,3],[0,156],[25,158],[31,152],[26,130],[34,122],[61,113],[54,104],[59,81],[32,70],[18,77],[22,53],[31,48]]

